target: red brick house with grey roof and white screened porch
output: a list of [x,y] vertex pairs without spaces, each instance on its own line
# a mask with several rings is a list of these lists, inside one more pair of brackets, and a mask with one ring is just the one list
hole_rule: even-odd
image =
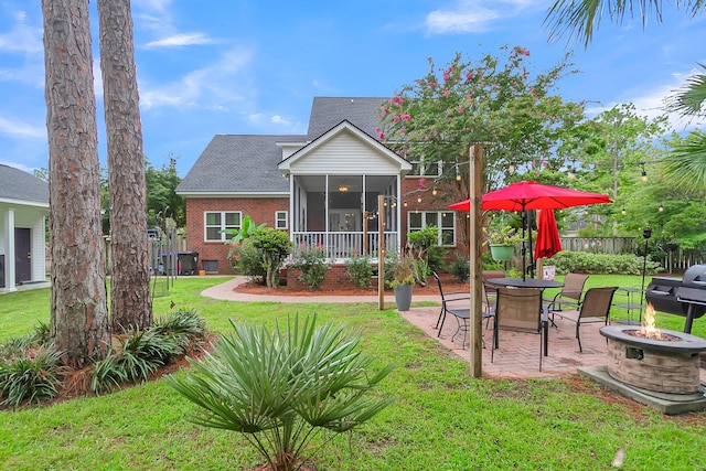
[[[331,260],[378,247],[378,201],[387,250],[406,234],[439,228],[453,247],[456,213],[426,182],[426,171],[379,141],[377,108],[386,98],[315,97],[306,135],[217,135],[176,188],[186,203],[186,247],[200,269],[231,274],[225,228],[243,217],[287,231],[295,247],[320,244]],[[424,181],[420,181],[424,180]],[[364,240],[367,240],[365,244]]]

